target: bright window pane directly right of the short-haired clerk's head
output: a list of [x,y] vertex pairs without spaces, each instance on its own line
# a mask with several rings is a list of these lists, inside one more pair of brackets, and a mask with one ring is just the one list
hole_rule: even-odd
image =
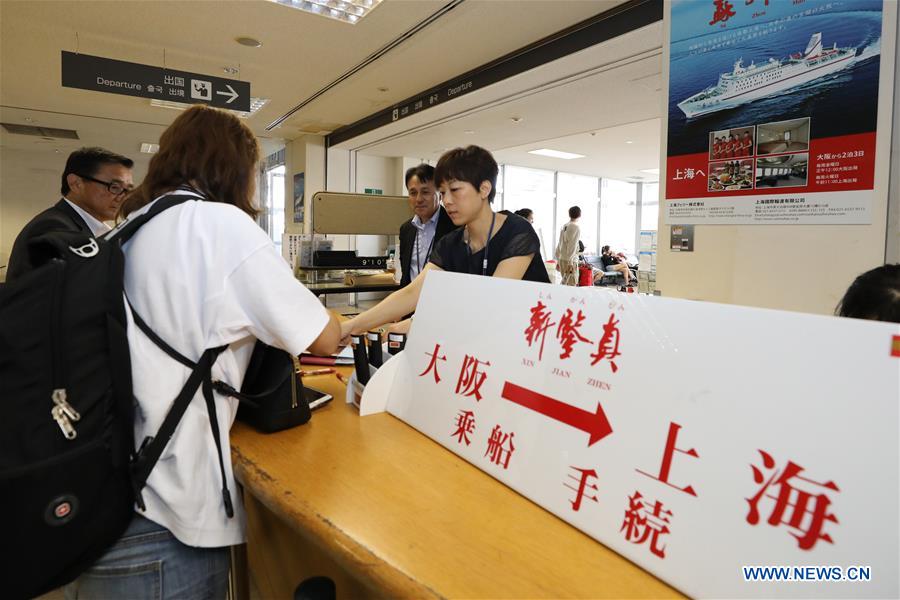
[[534,211],[534,230],[541,238],[541,254],[544,259],[552,259],[556,248],[553,171],[504,165],[503,174],[503,208],[510,212],[520,208]]

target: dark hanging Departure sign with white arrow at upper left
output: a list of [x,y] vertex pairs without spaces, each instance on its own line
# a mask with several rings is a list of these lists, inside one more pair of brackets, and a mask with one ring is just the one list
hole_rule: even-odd
[[62,53],[63,87],[250,110],[250,83],[150,65]]

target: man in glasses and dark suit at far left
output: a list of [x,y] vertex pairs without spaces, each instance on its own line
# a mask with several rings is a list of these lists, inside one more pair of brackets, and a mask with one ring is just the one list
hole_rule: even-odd
[[69,155],[62,174],[62,198],[34,217],[16,238],[6,280],[36,268],[28,242],[48,231],[83,231],[98,236],[109,231],[104,221],[116,217],[125,194],[134,187],[134,161],[103,148],[81,148]]

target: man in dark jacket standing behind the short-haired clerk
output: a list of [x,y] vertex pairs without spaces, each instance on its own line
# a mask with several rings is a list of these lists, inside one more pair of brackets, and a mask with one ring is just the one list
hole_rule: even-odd
[[409,207],[416,216],[400,226],[400,285],[409,285],[425,268],[434,245],[455,229],[434,187],[434,167],[421,164],[406,171]]

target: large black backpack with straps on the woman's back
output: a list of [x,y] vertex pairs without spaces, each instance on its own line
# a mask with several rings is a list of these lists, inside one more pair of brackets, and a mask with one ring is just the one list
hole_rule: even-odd
[[155,437],[134,452],[134,398],[126,335],[122,244],[173,193],[111,234],[51,231],[29,242],[39,266],[0,286],[0,561],[5,596],[37,596],[75,579],[143,508],[141,489],[188,404],[202,387],[219,448],[210,369],[225,347],[196,362],[135,323],[192,373]]

